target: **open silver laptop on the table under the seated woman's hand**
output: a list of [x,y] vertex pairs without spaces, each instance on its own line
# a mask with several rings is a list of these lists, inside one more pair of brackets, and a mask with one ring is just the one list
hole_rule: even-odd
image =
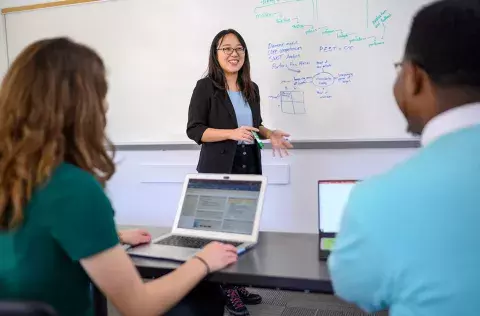
[[128,253],[183,262],[220,241],[241,254],[258,241],[266,186],[257,175],[187,175],[171,232]]

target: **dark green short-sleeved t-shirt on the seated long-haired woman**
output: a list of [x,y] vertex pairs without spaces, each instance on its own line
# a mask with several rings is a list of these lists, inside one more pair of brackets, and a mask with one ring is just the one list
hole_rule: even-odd
[[15,231],[0,232],[0,299],[49,303],[59,315],[93,315],[79,260],[118,244],[114,212],[89,173],[60,165],[38,188]]

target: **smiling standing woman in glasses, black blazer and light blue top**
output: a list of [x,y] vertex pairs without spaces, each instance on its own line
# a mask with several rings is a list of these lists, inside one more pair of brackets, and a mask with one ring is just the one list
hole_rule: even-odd
[[[261,174],[261,154],[252,132],[270,139],[273,152],[288,155],[288,134],[263,126],[260,92],[250,78],[248,49],[235,30],[218,33],[210,47],[208,75],[197,82],[190,101],[187,135],[202,145],[201,173]],[[225,287],[232,315],[249,315],[246,304],[261,297],[241,287]]]

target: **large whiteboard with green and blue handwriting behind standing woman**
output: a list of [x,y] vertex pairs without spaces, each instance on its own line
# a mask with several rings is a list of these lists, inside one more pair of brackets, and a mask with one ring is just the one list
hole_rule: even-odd
[[5,15],[10,62],[69,36],[104,58],[108,134],[120,144],[191,142],[196,81],[222,29],[245,38],[264,124],[292,140],[403,140],[392,86],[410,21],[428,1],[110,0]]

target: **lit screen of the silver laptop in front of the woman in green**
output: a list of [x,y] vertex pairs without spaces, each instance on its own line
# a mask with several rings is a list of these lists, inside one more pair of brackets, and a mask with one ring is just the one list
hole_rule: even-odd
[[250,235],[260,181],[190,179],[178,228]]

